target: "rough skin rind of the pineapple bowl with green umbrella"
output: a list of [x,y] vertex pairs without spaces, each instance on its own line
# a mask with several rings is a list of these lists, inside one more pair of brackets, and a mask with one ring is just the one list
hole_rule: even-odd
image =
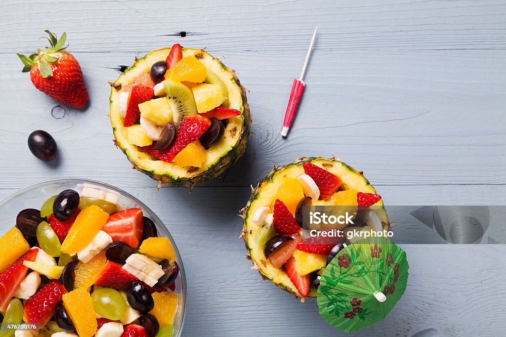
[[[324,157],[302,157],[302,158],[299,158],[297,160],[294,160],[292,161],[291,163],[289,164],[286,164],[282,167],[277,167],[275,166],[274,169],[271,171],[271,173],[269,173],[267,175],[267,177],[262,180],[258,185],[257,187],[252,187],[251,186],[251,196],[249,197],[247,203],[246,203],[246,206],[244,208],[241,209],[240,211],[240,216],[242,217],[243,219],[243,228],[242,228],[242,232],[241,232],[241,237],[242,239],[244,240],[244,245],[246,247],[246,252],[247,252],[247,255],[245,256],[246,259],[250,260],[252,262],[252,264],[254,265],[254,267],[252,267],[251,269],[255,269],[259,272],[260,276],[262,276],[262,280],[269,280],[272,284],[274,284],[275,286],[277,286],[278,288],[296,296],[297,298],[301,298],[301,302],[304,302],[306,298],[312,298],[312,297],[316,297],[316,292],[311,292],[311,289],[310,289],[310,292],[308,294],[307,297],[303,297],[299,291],[294,287],[293,284],[284,284],[282,282],[276,282],[275,280],[273,280],[273,277],[271,277],[271,275],[269,275],[268,272],[265,271],[265,268],[263,268],[262,266],[266,267],[267,265],[270,264],[270,262],[266,261],[266,260],[261,260],[261,261],[255,261],[255,259],[253,258],[254,254],[252,254],[252,249],[254,249],[254,246],[258,246],[258,244],[256,244],[256,242],[254,242],[253,238],[252,238],[252,235],[251,237],[249,237],[247,231],[248,231],[248,221],[249,221],[249,218],[250,216],[252,216],[252,214],[250,214],[251,212],[249,212],[250,210],[250,206],[251,206],[251,203],[254,202],[258,197],[259,197],[259,194],[261,193],[261,190],[262,188],[266,185],[266,184],[269,184],[269,183],[272,183],[274,178],[276,177],[276,175],[282,173],[283,171],[285,171],[287,168],[293,166],[293,165],[302,165],[304,162],[317,162],[317,161],[333,161],[333,162],[339,162],[340,164],[342,164],[349,172],[353,173],[354,176],[357,178],[357,179],[360,179],[363,181],[363,184],[364,184],[364,188],[367,188],[369,190],[370,193],[375,193],[376,190],[374,189],[374,187],[372,187],[372,185],[370,185],[369,181],[363,176],[362,172],[358,172],[357,170],[355,170],[355,168],[353,168],[352,166],[338,160],[338,159],[335,159],[335,158],[324,158]],[[344,182],[346,183],[346,182]],[[383,209],[385,210],[385,207],[383,205],[383,200],[380,200],[377,205],[381,205],[383,207]],[[386,214],[386,212],[384,213],[384,218],[382,220],[385,220],[387,225],[384,227],[384,229],[388,230],[391,226],[391,223],[390,221],[388,220],[388,216]],[[252,240],[253,242],[249,242],[250,240]],[[291,282],[290,282],[291,283]]]

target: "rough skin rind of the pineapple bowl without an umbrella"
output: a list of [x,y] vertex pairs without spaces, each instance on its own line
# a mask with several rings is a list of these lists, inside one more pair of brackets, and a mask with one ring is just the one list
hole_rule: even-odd
[[[170,50],[170,48],[168,48],[168,50]],[[147,58],[151,53],[157,52],[157,51],[159,51],[159,50],[151,51],[150,53],[146,54],[141,59],[137,59],[136,58],[136,61],[132,64],[132,66],[130,66],[128,69],[126,69],[124,71],[124,73],[127,73],[131,69],[134,69],[135,65],[139,61]],[[204,52],[203,50],[201,50],[200,52],[209,55],[208,53]],[[212,56],[210,56],[210,57],[212,57]],[[213,164],[211,164],[207,168],[206,171],[204,171],[204,172],[202,172],[200,174],[197,174],[197,175],[193,175],[191,177],[174,178],[170,174],[156,174],[156,173],[154,173],[152,171],[146,170],[145,168],[141,167],[133,158],[131,158],[129,156],[129,154],[127,153],[127,151],[126,151],[125,148],[123,148],[121,146],[118,146],[118,142],[117,142],[117,138],[116,138],[116,128],[114,127],[114,125],[112,125],[113,134],[114,134],[114,144],[118,148],[121,149],[121,151],[125,154],[125,156],[132,163],[133,168],[135,168],[135,170],[137,170],[139,172],[142,172],[145,175],[151,177],[153,180],[157,181],[158,182],[158,186],[160,186],[160,185],[188,186],[191,189],[191,188],[193,188],[193,186],[195,186],[197,184],[201,184],[201,183],[204,183],[206,181],[218,178],[223,173],[225,173],[231,165],[233,165],[235,162],[237,162],[237,160],[244,154],[244,151],[246,150],[246,142],[247,142],[247,139],[248,139],[248,137],[250,135],[251,122],[252,122],[251,113],[250,113],[250,110],[249,110],[249,104],[248,104],[247,98],[246,98],[246,89],[241,85],[241,83],[239,81],[239,78],[237,77],[237,75],[235,73],[235,70],[233,70],[233,69],[228,68],[227,66],[225,66],[223,64],[223,62],[221,62],[219,59],[214,58],[214,57],[212,57],[212,58],[213,58],[213,60],[216,60],[220,64],[220,66],[221,66],[221,68],[223,70],[228,71],[228,72],[230,72],[232,74],[233,80],[235,81],[235,83],[237,84],[237,86],[240,88],[241,97],[242,97],[242,116],[243,116],[242,127],[243,128],[242,128],[242,131],[239,133],[239,141],[235,144],[235,146],[233,146],[232,149],[230,149],[225,155],[221,156],[218,160],[215,160],[213,162]],[[121,76],[116,80],[116,82],[120,78],[121,78]],[[109,99],[109,102],[110,102],[109,106],[110,107],[112,107],[113,104],[116,104],[112,100],[113,93],[116,90],[114,88],[115,83],[113,83],[111,85],[111,96],[110,96],[110,99]],[[111,119],[111,124],[112,124],[112,119]]]

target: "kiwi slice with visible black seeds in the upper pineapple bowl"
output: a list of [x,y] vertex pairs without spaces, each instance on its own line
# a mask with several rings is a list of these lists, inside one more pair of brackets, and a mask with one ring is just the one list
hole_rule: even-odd
[[197,106],[191,90],[185,85],[170,79],[163,81],[163,88],[167,94],[168,103],[172,109],[172,120],[176,127],[188,116],[197,113]]

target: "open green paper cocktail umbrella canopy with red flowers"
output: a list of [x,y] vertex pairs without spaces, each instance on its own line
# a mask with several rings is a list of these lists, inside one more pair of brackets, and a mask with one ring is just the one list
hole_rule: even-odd
[[323,271],[320,315],[353,332],[387,317],[408,281],[406,252],[384,238],[361,239],[342,249]]

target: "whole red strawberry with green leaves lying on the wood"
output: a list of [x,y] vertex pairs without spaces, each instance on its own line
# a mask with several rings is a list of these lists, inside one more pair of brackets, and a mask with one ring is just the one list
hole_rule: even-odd
[[57,39],[49,30],[46,32],[51,47],[44,51],[39,49],[37,54],[29,57],[18,54],[25,66],[23,72],[30,72],[33,85],[41,92],[58,102],[80,109],[88,102],[88,92],[79,63],[65,50],[67,34],[63,33]]

